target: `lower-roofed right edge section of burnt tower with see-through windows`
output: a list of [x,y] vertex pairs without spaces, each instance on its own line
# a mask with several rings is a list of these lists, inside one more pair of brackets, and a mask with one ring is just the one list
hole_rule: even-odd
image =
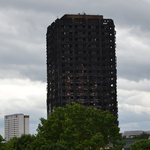
[[115,30],[111,19],[102,22],[102,43],[103,105],[117,117]]

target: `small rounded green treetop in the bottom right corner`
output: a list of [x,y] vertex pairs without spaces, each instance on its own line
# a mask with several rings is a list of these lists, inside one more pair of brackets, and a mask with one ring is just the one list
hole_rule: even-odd
[[131,145],[130,150],[150,150],[150,140],[136,141]]

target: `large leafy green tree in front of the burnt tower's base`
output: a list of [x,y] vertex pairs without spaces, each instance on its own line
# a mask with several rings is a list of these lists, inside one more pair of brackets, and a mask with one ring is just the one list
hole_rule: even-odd
[[121,138],[119,128],[112,114],[93,107],[85,108],[76,103],[57,107],[48,120],[41,118],[37,131],[36,143],[42,139],[46,144],[42,142],[34,147],[36,150],[42,146],[49,150],[122,148],[118,142]]

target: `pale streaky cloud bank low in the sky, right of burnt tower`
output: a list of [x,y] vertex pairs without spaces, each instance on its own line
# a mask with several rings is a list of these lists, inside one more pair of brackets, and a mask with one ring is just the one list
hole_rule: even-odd
[[150,80],[118,79],[118,109],[121,131],[149,130]]

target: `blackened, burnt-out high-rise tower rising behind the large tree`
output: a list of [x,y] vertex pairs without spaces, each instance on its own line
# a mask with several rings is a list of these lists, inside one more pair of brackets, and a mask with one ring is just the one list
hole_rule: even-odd
[[47,28],[47,114],[77,102],[118,118],[115,26],[101,15],[66,14]]

